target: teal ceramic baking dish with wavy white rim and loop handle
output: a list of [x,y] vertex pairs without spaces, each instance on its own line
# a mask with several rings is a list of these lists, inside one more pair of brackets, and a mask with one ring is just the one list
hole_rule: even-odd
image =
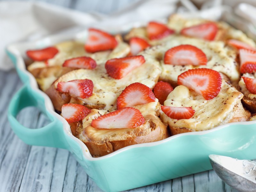
[[[183,133],[153,143],[128,146],[106,156],[92,157],[84,143],[72,135],[66,120],[55,113],[50,98],[38,89],[35,78],[26,70],[24,62],[26,50],[43,48],[67,39],[84,42],[86,31],[72,31],[7,47],[7,54],[24,83],[11,100],[8,119],[13,131],[25,143],[69,150],[102,190],[113,192],[210,170],[210,154],[239,159],[256,158],[256,121]],[[22,126],[16,116],[28,106],[39,108],[51,123],[40,129]]]

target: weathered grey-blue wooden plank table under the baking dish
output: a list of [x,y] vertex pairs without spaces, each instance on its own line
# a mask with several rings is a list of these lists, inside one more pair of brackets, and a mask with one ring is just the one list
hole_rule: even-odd
[[[84,12],[110,13],[138,0],[47,1]],[[22,83],[14,70],[0,71],[0,192],[102,191],[67,150],[29,146],[12,132],[7,120],[7,108],[13,94],[21,86]],[[33,107],[23,109],[17,119],[29,128],[40,128],[49,123],[47,117]],[[129,191],[237,192],[222,182],[213,170]]]

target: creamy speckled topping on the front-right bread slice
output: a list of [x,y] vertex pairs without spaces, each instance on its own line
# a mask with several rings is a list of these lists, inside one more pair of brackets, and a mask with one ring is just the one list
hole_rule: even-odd
[[160,117],[172,127],[185,127],[193,131],[212,129],[226,124],[234,116],[233,108],[241,105],[243,94],[232,85],[222,80],[221,90],[217,97],[205,100],[203,96],[189,90],[183,85],[177,86],[164,101],[165,106],[192,107],[196,112],[190,119],[172,119],[160,112]]

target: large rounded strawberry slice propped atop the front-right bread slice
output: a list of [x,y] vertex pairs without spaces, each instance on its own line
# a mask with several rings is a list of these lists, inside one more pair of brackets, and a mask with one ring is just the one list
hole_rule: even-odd
[[178,84],[187,86],[201,94],[204,99],[210,100],[220,92],[221,76],[212,69],[189,69],[178,76]]

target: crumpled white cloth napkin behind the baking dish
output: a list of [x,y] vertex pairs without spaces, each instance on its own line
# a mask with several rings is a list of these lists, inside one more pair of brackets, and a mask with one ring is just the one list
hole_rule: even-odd
[[[202,4],[202,0],[194,1]],[[220,19],[222,12],[228,10],[227,6],[222,5],[221,0],[206,3],[204,1],[203,10],[201,11],[198,11],[196,6],[189,0],[180,0],[182,6],[177,7],[178,2],[179,0],[141,0],[116,13],[103,15],[100,13],[79,12],[42,2],[1,1],[0,70],[13,68],[5,53],[6,45],[14,42],[36,40],[67,28],[75,26],[89,27],[92,25],[111,28],[136,21],[147,22],[149,20],[167,18],[173,12],[183,12],[183,15],[188,17]],[[236,2],[239,3],[239,0],[236,0]],[[240,2],[244,1],[240,0]],[[256,10],[251,5],[243,4],[240,7],[238,6],[236,13],[240,17],[247,18],[250,24],[252,21],[256,24],[255,16],[247,13],[248,6],[250,6],[251,13],[253,9]]]

